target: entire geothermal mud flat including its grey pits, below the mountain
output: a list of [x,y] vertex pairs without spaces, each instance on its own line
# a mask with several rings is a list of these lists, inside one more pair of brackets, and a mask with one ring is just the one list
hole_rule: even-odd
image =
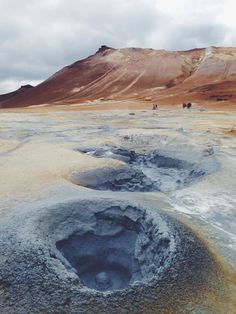
[[1,113],[2,313],[234,313],[236,114]]

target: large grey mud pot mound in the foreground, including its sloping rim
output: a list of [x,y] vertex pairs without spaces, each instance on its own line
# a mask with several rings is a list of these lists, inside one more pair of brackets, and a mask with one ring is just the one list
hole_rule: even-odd
[[222,290],[213,254],[161,210],[100,198],[22,219],[1,230],[6,313],[189,313]]

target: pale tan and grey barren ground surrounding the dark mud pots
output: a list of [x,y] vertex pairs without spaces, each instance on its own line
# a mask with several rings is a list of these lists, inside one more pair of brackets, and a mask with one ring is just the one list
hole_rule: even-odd
[[[42,258],[47,251],[44,237],[50,238],[46,231],[38,235],[41,227],[30,228],[29,221],[41,217],[41,212],[47,215],[47,210],[53,206],[80,200],[86,200],[89,206],[89,201],[94,199],[98,203],[109,199],[131,202],[137,207],[143,206],[154,212],[160,210],[174,217],[201,239],[217,265],[217,280],[214,283],[214,276],[209,279],[211,288],[214,288],[208,289],[203,282],[191,294],[188,287],[189,295],[183,292],[185,297],[180,304],[173,294],[169,296],[169,303],[163,305],[163,311],[152,293],[150,302],[142,301],[142,313],[157,313],[157,309],[160,313],[235,313],[235,106],[227,111],[224,107],[213,109],[207,103],[204,106],[194,104],[191,110],[161,106],[153,111],[151,107],[150,102],[107,101],[0,111],[0,246],[5,250],[0,259],[1,313],[28,313],[29,309],[31,313],[85,313],[73,297],[71,301],[67,298],[63,304],[55,301],[52,308],[50,300],[43,304],[44,288],[39,279],[34,278],[32,283],[38,285],[37,289],[29,287],[27,290],[21,282],[21,274],[26,269],[24,259],[31,250],[30,243],[35,234],[34,248],[38,245],[37,250],[42,249]],[[96,156],[104,147],[105,155]],[[99,189],[101,178],[109,177],[110,171],[129,167],[124,160],[114,158],[109,150],[114,147],[144,156],[156,150],[161,156],[196,165],[197,171],[203,175],[175,188],[177,185],[172,184],[173,180],[184,176],[185,172],[165,172],[165,181],[160,183],[164,188],[149,192]],[[145,170],[145,174],[156,180],[154,170],[151,174]],[[42,223],[45,218],[40,219]],[[13,261],[19,254],[23,266],[17,269]],[[69,284],[62,264],[57,266],[55,262],[55,268],[50,267],[41,274],[44,283],[49,280],[50,272],[58,272],[57,276],[64,276],[63,282]],[[19,280],[14,281],[14,276]],[[56,298],[63,298],[60,290]],[[93,313],[92,308],[96,306],[100,313],[106,313],[102,304],[108,302],[109,305],[109,301],[104,296],[102,298],[101,304],[96,299],[91,307],[88,304],[92,301],[87,301],[86,313]],[[120,312],[114,309],[114,313],[138,313],[135,301],[133,310],[128,305],[122,310],[122,302],[120,306]]]

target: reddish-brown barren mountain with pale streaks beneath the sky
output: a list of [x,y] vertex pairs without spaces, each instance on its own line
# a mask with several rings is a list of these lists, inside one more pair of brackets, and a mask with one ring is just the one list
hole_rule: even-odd
[[[21,90],[21,89],[20,89]],[[160,103],[236,100],[236,48],[166,51],[102,46],[34,88],[0,96],[0,106],[72,104],[95,99]]]

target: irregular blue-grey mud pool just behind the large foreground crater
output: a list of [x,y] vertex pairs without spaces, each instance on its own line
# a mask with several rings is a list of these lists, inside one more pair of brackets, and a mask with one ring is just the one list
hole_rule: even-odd
[[[163,155],[158,150],[138,153],[124,147],[108,145],[82,148],[80,152],[98,158],[117,159],[127,165],[119,171],[112,169],[100,174],[102,178],[99,182],[84,181],[84,186],[97,190],[171,192],[197,182],[204,176],[215,172],[219,167],[217,160],[212,156],[213,151],[207,152],[197,162]],[[93,175],[96,175],[96,170]],[[79,179],[77,177],[78,181]]]

